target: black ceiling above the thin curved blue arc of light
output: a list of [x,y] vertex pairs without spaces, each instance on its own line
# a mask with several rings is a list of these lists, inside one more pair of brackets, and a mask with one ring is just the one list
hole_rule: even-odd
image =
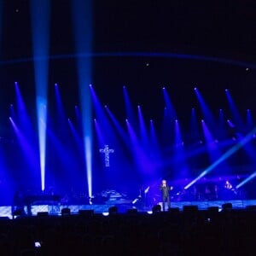
[[[73,52],[71,0],[51,3],[51,54]],[[94,50],[218,55],[255,61],[256,2],[102,1],[93,3]],[[31,55],[28,0],[3,1],[3,57]],[[17,47],[19,46],[19,47]]]

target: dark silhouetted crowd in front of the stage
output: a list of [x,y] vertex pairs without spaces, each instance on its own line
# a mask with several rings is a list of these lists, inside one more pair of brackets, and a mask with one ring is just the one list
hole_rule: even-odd
[[[118,209],[117,209],[118,210]],[[1,255],[255,255],[255,207],[0,219]]]

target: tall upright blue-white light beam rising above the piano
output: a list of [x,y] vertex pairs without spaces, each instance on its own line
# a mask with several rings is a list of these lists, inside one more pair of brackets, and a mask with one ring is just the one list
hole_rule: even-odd
[[[37,88],[41,189],[45,186],[46,117],[49,55],[50,1],[31,1],[34,70]],[[42,19],[44,17],[44,19]]]

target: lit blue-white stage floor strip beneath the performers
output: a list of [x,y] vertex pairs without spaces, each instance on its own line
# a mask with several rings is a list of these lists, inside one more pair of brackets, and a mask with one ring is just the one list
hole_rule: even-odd
[[[218,207],[222,209],[224,203],[231,203],[234,209],[245,209],[247,206],[256,206],[256,200],[236,200],[236,201],[173,201],[172,208],[178,208],[183,211],[184,206],[197,206],[199,210],[206,210],[208,207]],[[159,203],[161,204],[161,203]],[[33,205],[31,208],[31,215],[36,216],[38,212],[48,212],[49,215],[61,215],[63,208],[69,208],[71,214],[78,214],[79,210],[93,210],[95,213],[108,212],[109,207],[118,207],[118,212],[125,213],[129,209],[136,208],[138,212],[148,212],[152,210],[152,207],[142,207],[136,204],[102,204],[102,205]],[[0,207],[0,217],[13,218],[12,212],[14,211],[12,206]],[[26,207],[24,207],[25,213],[27,213]]]

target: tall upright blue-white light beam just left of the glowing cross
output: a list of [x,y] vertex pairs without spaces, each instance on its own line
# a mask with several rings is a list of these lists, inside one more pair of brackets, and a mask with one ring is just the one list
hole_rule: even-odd
[[[73,0],[73,25],[77,51],[79,96],[84,133],[84,159],[86,165],[88,195],[92,195],[92,122],[91,122],[91,49],[92,49],[92,1]],[[84,56],[83,56],[84,54]],[[89,86],[88,86],[89,84]]]

